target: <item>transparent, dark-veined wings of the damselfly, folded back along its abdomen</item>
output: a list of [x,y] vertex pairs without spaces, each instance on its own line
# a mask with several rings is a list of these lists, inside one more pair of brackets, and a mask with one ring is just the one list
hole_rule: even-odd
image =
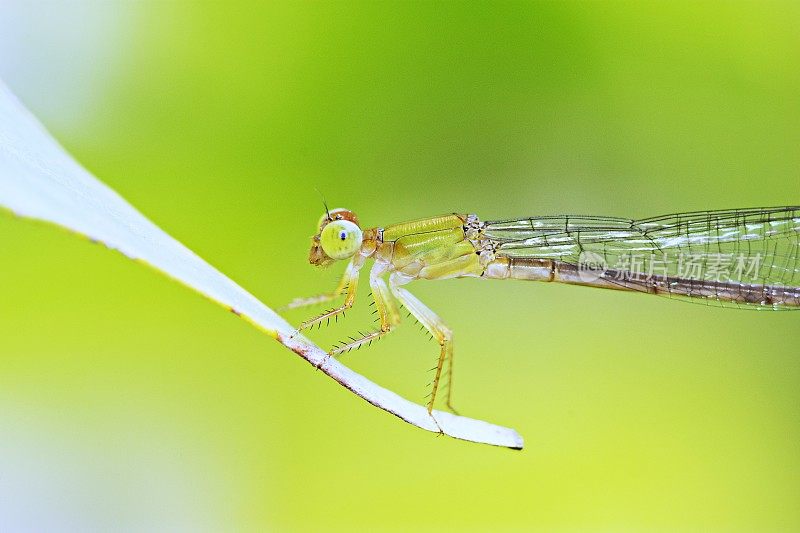
[[800,306],[800,206],[640,220],[542,216],[487,222],[496,255],[591,264],[620,288],[703,303]]

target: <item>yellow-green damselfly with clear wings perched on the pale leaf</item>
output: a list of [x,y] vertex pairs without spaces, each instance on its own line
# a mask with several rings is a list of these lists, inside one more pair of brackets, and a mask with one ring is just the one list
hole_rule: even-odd
[[408,283],[468,277],[558,282],[721,307],[797,310],[800,206],[695,211],[639,220],[551,215],[483,221],[475,214],[451,213],[371,228],[362,228],[348,209],[325,206],[308,259],[318,267],[348,264],[333,291],[296,298],[286,308],[341,296],[344,300],[302,322],[298,331],[343,317],[355,302],[360,272],[371,260],[369,286],[379,327],[349,337],[329,356],[371,345],[393,331],[400,323],[399,304],[440,345],[428,413],[443,376],[446,405],[455,413],[453,332],[408,291]]

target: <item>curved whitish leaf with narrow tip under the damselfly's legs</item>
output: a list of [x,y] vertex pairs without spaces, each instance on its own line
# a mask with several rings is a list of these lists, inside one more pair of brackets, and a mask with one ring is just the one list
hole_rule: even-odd
[[[81,167],[0,82],[0,206],[119,250],[229,308],[369,403],[428,431],[522,448],[512,429],[427,410],[353,372]],[[438,425],[437,425],[438,423]]]

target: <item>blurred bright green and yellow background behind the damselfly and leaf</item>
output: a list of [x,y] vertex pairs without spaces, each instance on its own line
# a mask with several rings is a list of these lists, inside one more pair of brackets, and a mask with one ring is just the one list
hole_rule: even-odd
[[[87,168],[278,307],[332,206],[650,216],[798,203],[796,2],[0,4],[0,77]],[[452,280],[455,402],[421,431],[231,313],[0,217],[4,531],[797,531],[800,324]],[[312,338],[328,346],[359,309]],[[314,309],[287,314],[293,322]],[[344,361],[423,401],[408,324]]]

